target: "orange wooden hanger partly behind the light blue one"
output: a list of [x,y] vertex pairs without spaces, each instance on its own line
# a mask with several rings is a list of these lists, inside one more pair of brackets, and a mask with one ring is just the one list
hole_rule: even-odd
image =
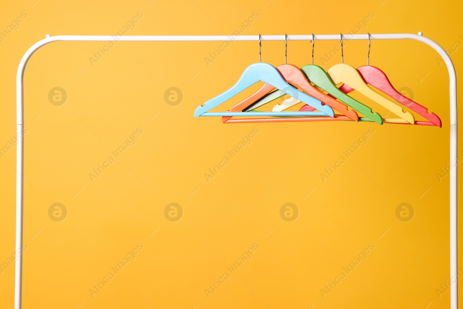
[[[358,114],[355,110],[347,109],[347,105],[344,103],[333,99],[331,96],[326,95],[324,92],[315,88],[308,80],[305,74],[293,64],[282,64],[276,68],[283,78],[293,86],[301,89],[308,95],[313,96],[316,99],[322,101],[322,104],[328,104],[330,107],[336,109],[338,112],[343,113],[344,115],[335,115],[335,117],[329,116],[320,116],[320,117],[287,117],[287,118],[254,118],[254,119],[235,119],[238,121],[231,120],[232,117],[222,117],[222,122],[296,122],[296,121],[320,121],[320,120],[355,120],[358,121]],[[270,91],[274,90],[275,87],[264,84],[255,94],[239,102],[232,107],[232,112],[241,112],[246,107],[249,107],[251,104],[261,99],[264,95],[268,94]],[[304,111],[313,111],[315,108],[304,106],[302,108]],[[301,110],[302,110],[301,108]]]

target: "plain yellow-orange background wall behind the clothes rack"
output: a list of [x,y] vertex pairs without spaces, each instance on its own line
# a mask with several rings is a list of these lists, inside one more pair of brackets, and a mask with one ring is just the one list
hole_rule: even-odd
[[[35,1],[5,2],[0,10],[0,30],[12,26],[0,42],[1,147],[16,134],[19,59],[47,33],[114,35],[126,26],[125,35],[230,35],[243,25],[242,35],[422,31],[449,48],[461,80],[457,1]],[[366,65],[368,42],[344,43],[344,62]],[[438,53],[416,41],[378,40],[370,64],[438,114],[442,129],[225,125],[195,119],[194,110],[258,61],[258,43],[230,42],[206,61],[222,44],[56,42],[31,57],[24,76],[23,308],[449,308],[450,292],[441,287],[450,279],[449,177],[441,171],[449,163],[449,78]],[[339,63],[339,53],[321,60],[338,44],[316,41],[314,63]],[[109,51],[89,60],[100,48]],[[309,64],[311,52],[310,42],[289,41],[288,63]],[[263,42],[262,60],[284,63],[283,42]],[[50,103],[55,87],[67,94],[62,105]],[[181,102],[164,100],[170,87],[181,90]],[[323,180],[325,168],[365,132],[373,132],[366,144]],[[242,141],[248,145],[229,156]],[[109,167],[90,177],[108,157]],[[224,157],[230,162],[207,179]],[[12,144],[0,158],[0,262],[8,265],[0,274],[2,308],[14,300],[15,164]],[[56,205],[49,211],[54,203],[64,205],[64,220],[64,213],[53,216]],[[181,220],[169,217],[169,203],[180,205],[171,215],[182,213]],[[282,219],[285,203],[298,209],[296,220]],[[413,208],[412,220],[396,216],[401,203]],[[240,258],[247,261],[238,271],[227,269]],[[345,271],[356,258],[363,260]],[[126,265],[117,273],[119,262]],[[214,291],[216,279],[225,283]]]

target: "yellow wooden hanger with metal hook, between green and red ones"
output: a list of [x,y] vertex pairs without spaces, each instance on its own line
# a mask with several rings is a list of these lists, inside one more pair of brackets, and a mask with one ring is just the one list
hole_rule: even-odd
[[[343,63],[338,63],[333,65],[328,70],[328,76],[335,85],[344,83],[350,88],[354,88],[361,94],[365,95],[369,99],[375,101],[376,103],[386,107],[388,110],[396,114],[402,119],[384,119],[384,122],[400,122],[400,123],[415,123],[415,118],[410,112],[404,112],[403,108],[400,107],[397,103],[388,100],[384,96],[377,93],[375,90],[371,89],[366,82],[363,81],[360,73],[351,65],[344,63],[343,55],[343,43],[342,43],[342,34],[341,34],[341,57]],[[392,121],[391,121],[392,120]]]

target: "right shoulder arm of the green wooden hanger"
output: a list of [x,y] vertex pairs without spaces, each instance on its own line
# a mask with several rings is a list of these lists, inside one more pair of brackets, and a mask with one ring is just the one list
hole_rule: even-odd
[[302,68],[300,68],[302,72],[307,76],[310,82],[315,84],[315,86],[322,88],[325,90],[329,95],[332,95],[336,99],[341,102],[344,102],[351,108],[357,110],[357,112],[365,115],[369,119],[375,121],[376,123],[382,125],[382,117],[378,113],[373,113],[371,108],[362,104],[361,102],[355,100],[354,98],[350,97],[349,95],[344,94],[341,90],[336,87],[333,82],[331,81],[328,74],[325,72],[324,69],[319,67],[318,65],[309,64]]

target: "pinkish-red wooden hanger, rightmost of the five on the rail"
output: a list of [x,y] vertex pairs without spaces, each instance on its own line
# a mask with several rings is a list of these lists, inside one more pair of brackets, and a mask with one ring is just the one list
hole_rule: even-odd
[[[389,82],[388,76],[386,76],[386,74],[384,74],[381,69],[378,69],[372,65],[364,65],[357,68],[357,71],[360,73],[360,76],[362,76],[363,80],[367,84],[375,87],[378,90],[381,90],[395,101],[410,108],[414,112],[423,116],[425,119],[430,120],[431,124],[442,127],[442,122],[438,115],[434,113],[428,113],[428,109],[426,107],[418,104],[413,100],[410,100],[406,96],[402,95],[399,91],[395,90],[394,86],[392,86],[391,82]],[[349,93],[354,90],[346,84],[339,87],[339,89],[344,93]],[[424,121],[420,121],[420,124],[424,124]]]

